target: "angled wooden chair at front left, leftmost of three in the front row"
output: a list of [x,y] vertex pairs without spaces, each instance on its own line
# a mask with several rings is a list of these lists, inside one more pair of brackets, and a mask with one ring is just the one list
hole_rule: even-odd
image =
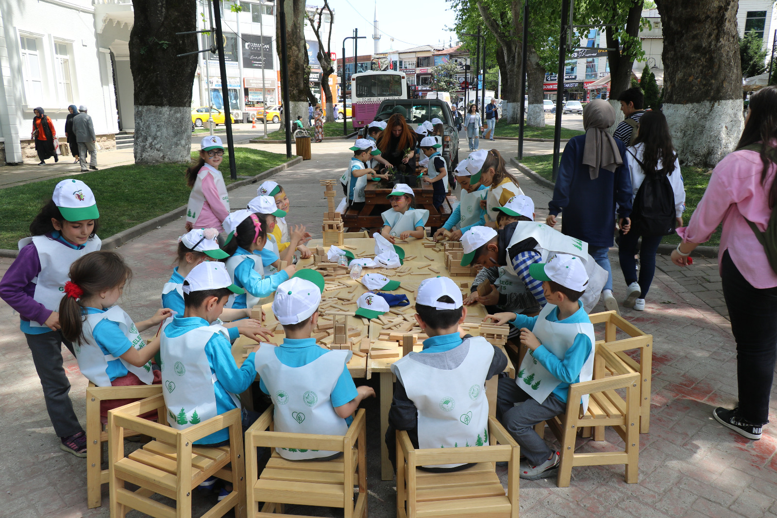
[[[234,508],[235,516],[245,518],[246,486],[243,483],[239,409],[183,430],[138,417],[153,410],[159,415],[166,415],[162,394],[108,411],[110,516],[123,518],[130,508],[155,518],[189,518],[193,488],[214,475],[232,482],[233,488],[204,516],[217,518]],[[229,446],[208,448],[193,445],[193,441],[225,428],[229,429]],[[125,429],[144,433],[155,440],[124,457]],[[227,467],[227,464],[232,466]],[[124,488],[124,482],[140,488],[132,492]],[[176,507],[148,498],[155,493],[176,500]]]

